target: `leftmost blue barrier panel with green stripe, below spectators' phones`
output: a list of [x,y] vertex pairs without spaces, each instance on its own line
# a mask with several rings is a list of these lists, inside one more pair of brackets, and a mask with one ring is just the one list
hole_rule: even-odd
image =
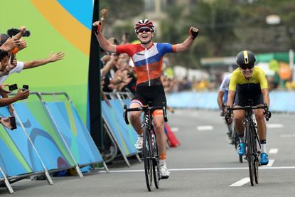
[[[7,107],[0,108],[0,116],[10,116]],[[23,121],[23,124],[25,127],[31,126],[28,119]],[[41,161],[18,119],[16,119],[16,125],[17,129],[13,131],[0,126],[0,166],[4,174],[10,177],[44,171]]]

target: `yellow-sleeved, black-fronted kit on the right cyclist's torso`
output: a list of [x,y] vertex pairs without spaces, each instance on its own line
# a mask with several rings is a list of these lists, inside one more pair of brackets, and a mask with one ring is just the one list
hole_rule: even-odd
[[262,89],[268,88],[267,78],[263,70],[254,66],[252,77],[247,80],[242,71],[237,68],[230,77],[229,90],[235,91],[234,105],[246,106],[250,105],[249,101],[252,100],[251,105],[263,104]]

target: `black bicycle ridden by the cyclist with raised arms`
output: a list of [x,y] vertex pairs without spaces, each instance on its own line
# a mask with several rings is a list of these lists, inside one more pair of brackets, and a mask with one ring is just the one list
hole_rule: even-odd
[[142,155],[144,159],[144,174],[146,177],[146,186],[151,191],[152,180],[154,176],[154,184],[156,188],[159,188],[160,176],[160,164],[159,164],[159,150],[156,143],[156,132],[154,132],[154,122],[151,112],[153,110],[163,110],[164,121],[167,122],[166,105],[163,102],[162,106],[152,107],[152,103],[137,108],[127,109],[127,105],[124,105],[124,119],[126,124],[129,124],[127,112],[142,111],[144,116],[142,117],[143,137],[144,144],[142,149]]

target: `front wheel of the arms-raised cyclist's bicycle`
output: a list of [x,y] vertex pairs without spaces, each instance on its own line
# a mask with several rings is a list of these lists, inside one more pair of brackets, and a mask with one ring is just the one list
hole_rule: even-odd
[[144,174],[146,176],[146,187],[151,191],[153,181],[153,161],[151,160],[151,136],[148,127],[144,127],[144,144],[142,154],[144,156]]

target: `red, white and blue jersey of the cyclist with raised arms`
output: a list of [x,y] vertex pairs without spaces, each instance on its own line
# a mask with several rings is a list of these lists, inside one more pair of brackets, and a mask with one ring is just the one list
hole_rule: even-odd
[[126,44],[117,46],[117,53],[127,53],[134,62],[137,75],[136,85],[162,85],[161,71],[163,55],[176,52],[176,46],[169,43],[153,43],[149,48],[141,44]]

